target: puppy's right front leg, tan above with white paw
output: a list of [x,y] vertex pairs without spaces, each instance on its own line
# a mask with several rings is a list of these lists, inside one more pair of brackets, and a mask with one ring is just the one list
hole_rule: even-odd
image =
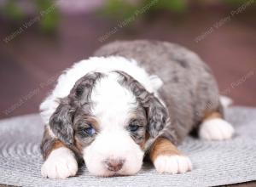
[[150,159],[159,173],[185,173],[192,169],[188,156],[177,150],[168,139],[158,138],[150,150]]

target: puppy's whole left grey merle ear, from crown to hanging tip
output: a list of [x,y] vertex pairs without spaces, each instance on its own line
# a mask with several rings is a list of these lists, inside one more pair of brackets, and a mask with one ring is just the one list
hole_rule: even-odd
[[102,73],[92,72],[79,78],[70,94],[61,99],[61,104],[49,119],[49,127],[58,139],[65,144],[73,144],[73,116],[77,108],[90,103],[90,94]]

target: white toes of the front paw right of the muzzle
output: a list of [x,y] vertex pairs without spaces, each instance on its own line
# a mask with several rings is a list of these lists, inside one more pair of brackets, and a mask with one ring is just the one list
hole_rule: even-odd
[[158,156],[154,167],[159,173],[185,173],[191,171],[192,163],[188,156]]

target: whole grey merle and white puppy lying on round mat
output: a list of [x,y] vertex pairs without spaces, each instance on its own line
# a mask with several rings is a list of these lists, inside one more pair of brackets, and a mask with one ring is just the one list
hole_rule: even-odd
[[148,156],[159,173],[192,169],[177,144],[230,139],[212,71],[193,52],[157,41],[112,42],[59,77],[40,105],[42,175],[67,178],[79,157],[96,176],[133,175]]

